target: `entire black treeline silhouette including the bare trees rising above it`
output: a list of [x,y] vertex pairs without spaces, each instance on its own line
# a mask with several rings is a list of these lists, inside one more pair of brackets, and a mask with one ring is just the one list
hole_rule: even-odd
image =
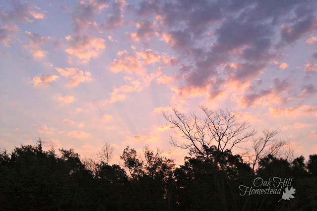
[[[287,141],[276,138],[279,131],[256,137],[238,113],[201,109],[203,118],[175,108],[163,113],[185,140],[171,136],[171,143],[190,151],[180,167],[148,147],[142,156],[124,149],[122,166],[109,165],[110,144],[95,161],[72,149],[44,151],[41,140],[1,152],[0,210],[317,210],[317,155],[293,159]],[[244,142],[252,148],[234,155]]]

